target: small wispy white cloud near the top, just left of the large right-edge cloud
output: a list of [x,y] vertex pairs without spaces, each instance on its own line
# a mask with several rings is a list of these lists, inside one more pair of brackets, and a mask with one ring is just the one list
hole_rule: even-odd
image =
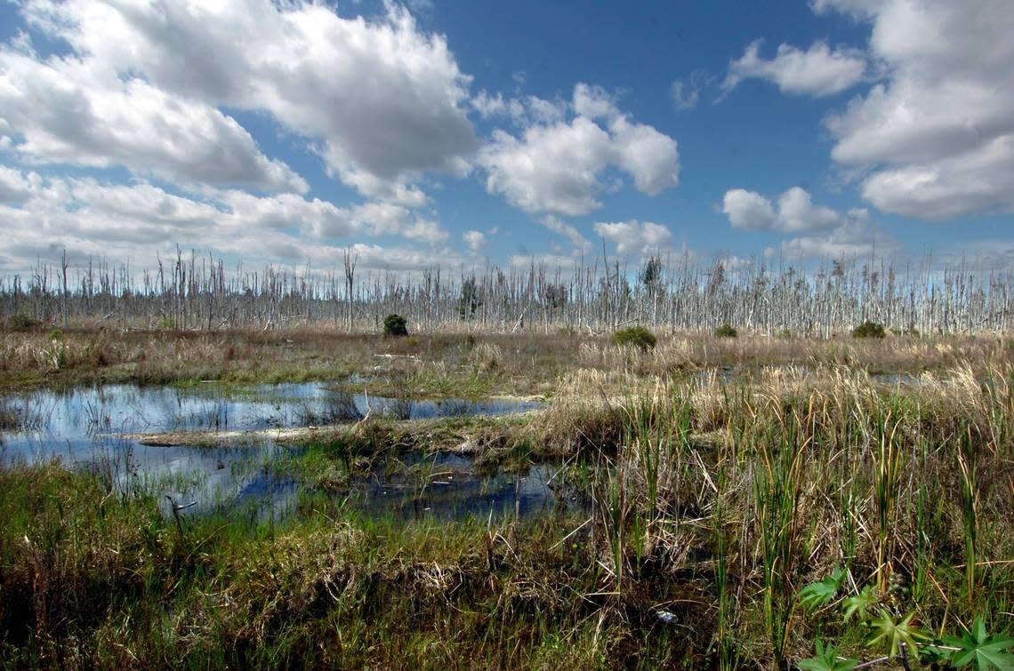
[[774,82],[785,93],[829,95],[855,86],[864,78],[866,57],[861,51],[824,42],[813,43],[805,52],[791,45],[780,45],[775,58],[760,56],[760,42],[746,48],[743,55],[729,64],[722,87],[731,90],[744,79]]

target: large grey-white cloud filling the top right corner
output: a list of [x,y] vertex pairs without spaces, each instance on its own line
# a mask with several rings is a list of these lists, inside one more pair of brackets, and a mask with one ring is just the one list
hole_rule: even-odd
[[884,212],[1014,211],[1014,12],[1006,0],[818,0],[871,23],[886,81],[825,124]]

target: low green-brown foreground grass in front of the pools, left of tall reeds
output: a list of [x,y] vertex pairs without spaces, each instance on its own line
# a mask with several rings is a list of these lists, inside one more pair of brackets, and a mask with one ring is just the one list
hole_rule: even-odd
[[103,500],[57,465],[0,479],[8,665],[591,668],[693,654],[633,625],[648,604],[639,615],[594,596],[592,548],[560,543],[559,521],[399,525],[310,508],[274,528],[208,518],[180,533],[153,501]]

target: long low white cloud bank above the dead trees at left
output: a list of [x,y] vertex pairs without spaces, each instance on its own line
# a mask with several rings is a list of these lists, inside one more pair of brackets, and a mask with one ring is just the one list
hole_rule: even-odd
[[[0,203],[8,270],[30,267],[37,254],[55,256],[63,248],[78,257],[90,254],[140,266],[152,264],[156,250],[167,251],[176,244],[243,258],[328,262],[339,258],[341,248],[349,244],[335,246],[331,241],[353,235],[400,235],[431,245],[446,237],[435,222],[391,212],[389,204],[346,209],[297,194],[206,190],[198,198],[147,181],[44,179],[2,166],[0,189],[15,194]],[[412,263],[423,268],[433,259],[433,251],[427,249],[371,257],[376,268],[407,268]],[[440,256],[456,258],[445,249]]]

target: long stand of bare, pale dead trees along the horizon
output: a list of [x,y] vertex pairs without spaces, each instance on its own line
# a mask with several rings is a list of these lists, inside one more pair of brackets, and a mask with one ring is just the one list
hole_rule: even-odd
[[138,270],[66,253],[29,275],[0,278],[0,316],[67,326],[214,330],[341,325],[377,331],[383,316],[414,329],[603,332],[627,324],[660,331],[714,330],[729,323],[769,336],[822,336],[871,320],[899,332],[1007,331],[1014,321],[1014,271],[929,258],[830,262],[812,268],[716,258],[600,257],[555,268],[433,267],[417,272],[268,266],[226,268],[221,258],[176,252]]

